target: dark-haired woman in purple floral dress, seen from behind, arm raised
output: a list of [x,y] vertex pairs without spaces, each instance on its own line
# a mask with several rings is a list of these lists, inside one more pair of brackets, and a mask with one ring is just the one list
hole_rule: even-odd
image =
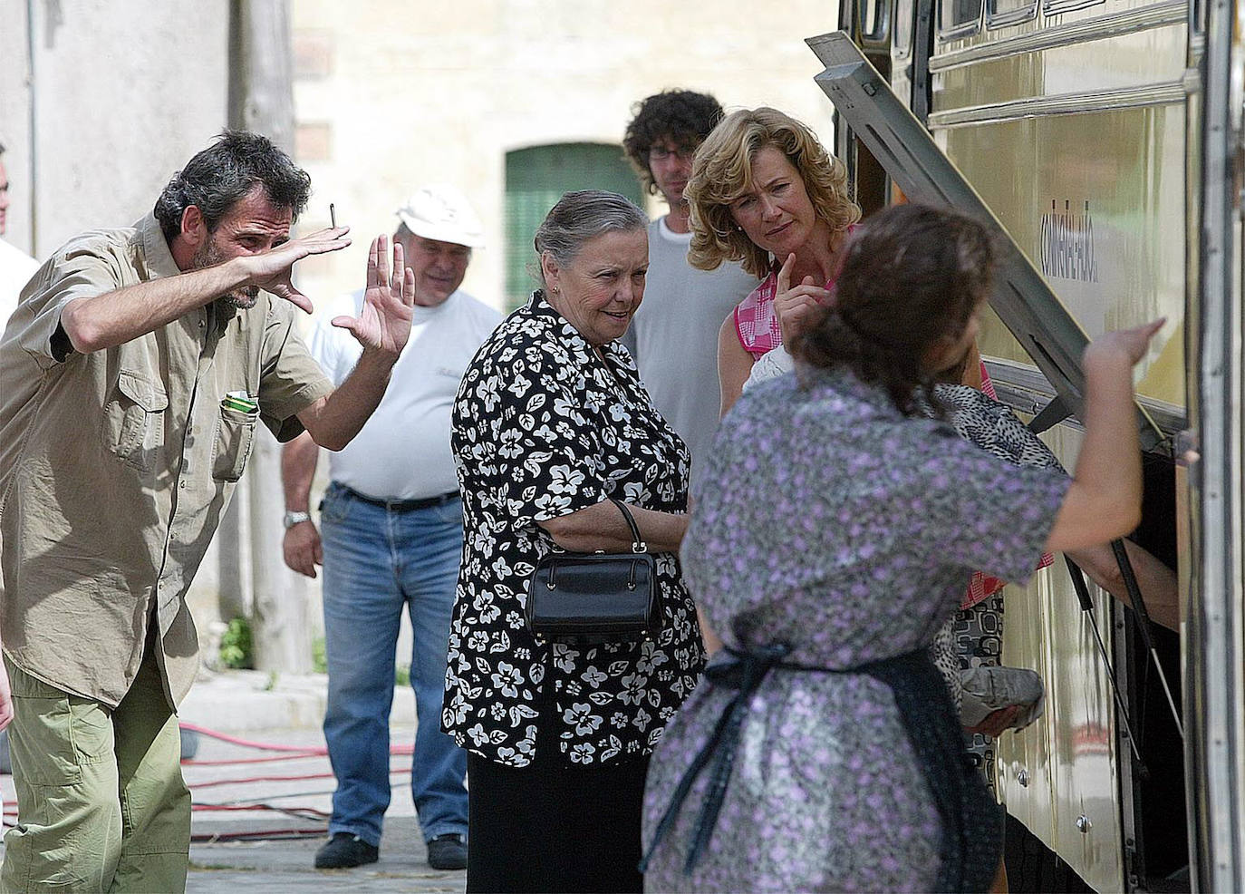
[[792,345],[797,375],[723,421],[682,558],[726,647],[650,765],[652,890],[990,887],[1000,817],[928,647],[974,568],[1023,580],[1043,550],[1135,527],[1130,375],[1157,329],[1087,349],[1071,479],[1013,466],[921,412],[990,265],[972,220],[880,212]]

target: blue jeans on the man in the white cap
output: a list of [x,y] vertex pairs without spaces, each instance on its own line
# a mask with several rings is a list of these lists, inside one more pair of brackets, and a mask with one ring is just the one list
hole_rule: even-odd
[[390,803],[393,651],[403,606],[415,647],[418,728],[411,794],[426,840],[467,834],[467,753],[441,732],[449,614],[462,557],[462,502],[395,512],[332,483],[320,504],[329,706],[324,737],[337,777],[329,834],[378,845]]

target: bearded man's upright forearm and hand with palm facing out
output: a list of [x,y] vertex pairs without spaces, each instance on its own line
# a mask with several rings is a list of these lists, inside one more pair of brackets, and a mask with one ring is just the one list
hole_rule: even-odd
[[359,316],[335,316],[364,346],[354,371],[331,395],[299,411],[311,438],[331,451],[345,447],[376,410],[390,372],[411,335],[415,273],[403,264],[402,244],[393,243],[392,269],[386,263],[388,237],[377,237],[367,255],[367,289]]

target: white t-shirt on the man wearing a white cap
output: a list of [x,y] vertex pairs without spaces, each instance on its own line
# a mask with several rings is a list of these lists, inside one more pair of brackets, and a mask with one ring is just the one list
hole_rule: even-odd
[[[309,347],[335,385],[355,369],[362,346],[330,320],[357,316],[362,304],[360,289],[316,315]],[[411,337],[385,396],[355,440],[330,453],[330,478],[376,499],[422,499],[457,491],[449,413],[467,365],[500,320],[500,314],[461,290],[436,308],[415,308]]]

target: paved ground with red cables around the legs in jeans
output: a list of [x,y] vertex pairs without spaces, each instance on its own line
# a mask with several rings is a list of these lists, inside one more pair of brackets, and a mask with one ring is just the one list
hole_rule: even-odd
[[[182,718],[235,738],[281,747],[324,748],[317,725],[322,716],[322,677],[278,680],[266,675],[225,674],[200,679],[183,706]],[[406,755],[392,760],[393,802],[385,822],[381,859],[351,870],[316,870],[311,862],[325,840],[335,788],[329,758],[289,756],[220,740],[199,737],[194,761],[183,773],[197,809],[192,823],[193,894],[294,894],[295,892],[462,892],[466,873],[437,872],[425,862],[423,837],[410,789],[410,745],[415,741],[411,691],[395,703],[391,737]],[[264,728],[274,722],[286,728]],[[288,725],[295,723],[293,728]],[[280,760],[238,763],[255,758]],[[296,777],[296,778],[289,778]],[[6,822],[12,822],[12,777],[0,776]],[[266,804],[275,809],[255,809]],[[314,837],[245,840],[247,834],[312,832]],[[2,850],[2,849],[0,849]]]

